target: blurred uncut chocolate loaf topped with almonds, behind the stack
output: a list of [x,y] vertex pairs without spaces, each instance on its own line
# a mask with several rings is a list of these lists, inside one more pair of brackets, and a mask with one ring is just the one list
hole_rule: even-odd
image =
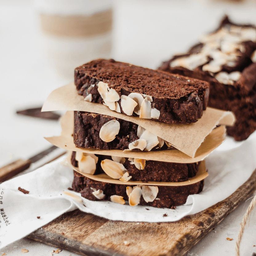
[[244,140],[256,130],[256,27],[230,22],[159,70],[210,83],[208,106],[234,112],[236,123],[227,134]]

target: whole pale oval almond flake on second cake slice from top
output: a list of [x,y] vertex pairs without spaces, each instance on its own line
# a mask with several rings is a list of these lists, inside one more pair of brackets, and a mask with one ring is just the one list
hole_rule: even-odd
[[120,123],[115,119],[110,120],[101,127],[99,137],[105,142],[113,141],[119,133],[119,130]]

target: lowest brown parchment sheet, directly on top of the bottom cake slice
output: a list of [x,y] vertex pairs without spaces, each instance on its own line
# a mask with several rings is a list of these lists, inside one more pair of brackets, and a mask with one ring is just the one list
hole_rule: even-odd
[[113,179],[109,177],[107,174],[102,173],[102,174],[97,174],[97,175],[92,175],[92,174],[87,174],[79,171],[78,167],[75,167],[71,163],[71,154],[72,151],[70,151],[67,155],[66,162],[63,163],[63,165],[72,168],[76,172],[84,175],[87,178],[90,178],[92,180],[96,181],[101,181],[101,182],[107,182],[107,183],[113,183],[113,184],[122,184],[122,185],[149,185],[149,186],[186,186],[190,184],[194,184],[196,182],[199,182],[203,179],[205,179],[208,176],[208,173],[206,172],[206,167],[205,167],[205,162],[202,161],[200,165],[198,166],[198,172],[196,176],[193,178],[189,178],[187,181],[182,181],[182,182],[157,182],[157,181],[148,181],[148,182],[142,182],[142,181],[127,181],[123,182],[119,179]]

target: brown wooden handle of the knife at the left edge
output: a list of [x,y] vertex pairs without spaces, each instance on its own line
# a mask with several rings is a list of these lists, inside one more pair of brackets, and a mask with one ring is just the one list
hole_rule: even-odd
[[0,182],[4,182],[12,178],[16,174],[28,169],[30,164],[31,161],[29,159],[18,159],[6,166],[3,166],[2,168],[0,168]]

